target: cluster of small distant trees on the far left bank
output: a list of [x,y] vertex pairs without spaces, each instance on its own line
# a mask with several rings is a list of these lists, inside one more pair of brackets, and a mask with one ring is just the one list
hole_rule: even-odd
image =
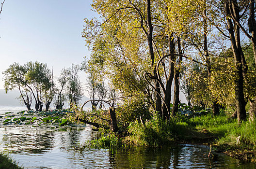
[[27,62],[24,65],[14,63],[3,72],[4,87],[6,93],[18,89],[19,99],[28,110],[31,110],[33,100],[36,111],[42,111],[44,104],[48,111],[53,100],[57,109],[62,109],[66,101],[69,101],[70,107],[77,106],[83,96],[79,71],[79,65],[63,69],[61,77],[55,82],[53,70],[50,70],[47,64],[38,61]]

